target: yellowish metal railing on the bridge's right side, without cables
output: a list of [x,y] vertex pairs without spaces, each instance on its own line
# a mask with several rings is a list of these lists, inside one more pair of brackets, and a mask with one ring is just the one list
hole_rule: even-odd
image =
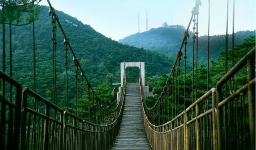
[[[255,47],[252,48],[234,67],[232,67],[217,83],[216,89],[212,88],[189,107],[176,115],[171,121],[161,125],[154,125],[150,118],[155,110],[147,110],[143,86],[140,77],[141,105],[143,121],[147,137],[154,150],[169,149],[200,149],[200,146],[210,144],[208,149],[218,150],[229,148],[254,149],[255,141]],[[247,65],[248,82],[238,90],[223,98],[222,86],[236,73]],[[166,94],[166,93],[164,93]],[[248,94],[248,97],[246,97]],[[164,95],[166,96],[166,95]],[[248,99],[248,100],[247,100]],[[212,108],[201,107],[212,102]],[[247,106],[247,107],[246,107]],[[194,109],[196,112],[194,112]],[[247,111],[247,112],[246,112]],[[158,116],[159,117],[159,116]],[[229,117],[229,119],[225,119]],[[224,119],[224,120],[223,120]],[[249,123],[245,122],[248,119]],[[228,126],[227,126],[228,124]],[[245,129],[250,126],[250,131],[233,132],[235,129]],[[203,134],[202,134],[203,133]],[[250,134],[248,137],[248,134]],[[230,136],[238,140],[229,144],[225,138]],[[238,138],[240,137],[240,138]],[[244,145],[249,140],[250,145]],[[209,145],[208,145],[209,146]],[[204,147],[205,149],[205,147]]]

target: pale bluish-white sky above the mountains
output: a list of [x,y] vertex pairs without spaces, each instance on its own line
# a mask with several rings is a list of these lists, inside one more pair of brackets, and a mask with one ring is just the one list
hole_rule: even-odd
[[[50,0],[56,10],[76,17],[99,33],[118,41],[146,31],[146,11],[149,29],[168,25],[187,28],[195,0]],[[198,35],[208,34],[208,0],[201,0],[198,16]],[[229,0],[228,33],[232,33],[233,2]],[[46,0],[40,5],[49,6]],[[234,31],[254,30],[255,0],[235,0]],[[210,35],[226,34],[227,0],[210,0]],[[192,26],[190,27],[192,29]]]

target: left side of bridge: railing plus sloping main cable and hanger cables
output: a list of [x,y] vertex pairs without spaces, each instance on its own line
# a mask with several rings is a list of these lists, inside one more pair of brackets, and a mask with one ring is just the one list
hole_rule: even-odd
[[[0,71],[0,148],[7,150],[107,150],[110,149],[117,137],[123,114],[126,78],[124,74],[121,100],[114,110],[108,107],[97,97],[85,73],[83,72],[77,57],[64,33],[58,15],[50,4],[49,16],[52,16],[52,41],[53,41],[53,102],[45,99],[36,92],[36,80],[34,72],[34,90],[24,88],[5,73]],[[34,24],[34,23],[33,23]],[[75,114],[69,112],[68,86],[66,82],[66,109],[57,106],[56,90],[56,28],[60,28],[64,36],[65,68],[67,77],[67,51],[73,55],[75,66]],[[33,25],[34,33],[34,25]],[[35,44],[33,37],[33,43]],[[4,41],[5,42],[5,41]],[[34,45],[33,45],[34,47]],[[3,52],[4,53],[4,52]],[[3,60],[5,62],[5,59]],[[34,54],[35,64],[35,54]],[[10,64],[11,66],[12,64]],[[10,68],[11,70],[11,68]],[[34,65],[35,71],[35,65]],[[79,76],[81,73],[81,94],[79,92]],[[83,84],[83,79],[86,84]],[[2,81],[2,83],[1,83]],[[67,81],[67,78],[66,78]],[[14,95],[6,94],[4,82],[16,88]],[[1,86],[3,87],[1,88]],[[82,92],[86,86],[89,116],[83,117]],[[81,95],[81,116],[78,116],[78,98]],[[8,99],[10,98],[10,99]],[[12,101],[12,99],[14,99]],[[31,101],[33,99],[33,101]],[[34,103],[34,107],[28,106]],[[93,108],[90,107],[93,105]],[[7,108],[7,109],[6,109]],[[90,114],[93,113],[93,114]]]

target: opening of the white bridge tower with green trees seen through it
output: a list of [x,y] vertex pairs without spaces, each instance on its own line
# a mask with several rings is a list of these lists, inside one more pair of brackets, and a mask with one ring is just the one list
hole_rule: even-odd
[[127,83],[139,83],[139,67],[126,67],[125,76]]

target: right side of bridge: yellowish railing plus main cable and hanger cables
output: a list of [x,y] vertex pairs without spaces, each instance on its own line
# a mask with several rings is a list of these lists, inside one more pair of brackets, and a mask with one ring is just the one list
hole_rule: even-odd
[[[210,0],[208,2],[210,17]],[[255,47],[241,58],[240,61],[236,64],[234,63],[233,18],[232,66],[229,71],[227,70],[227,65],[225,66],[225,75],[216,83],[216,88],[209,90],[208,63],[207,92],[198,98],[197,37],[198,8],[200,5],[200,0],[196,0],[196,5],[192,10],[189,25],[185,31],[181,48],[178,51],[169,78],[167,78],[165,87],[153,107],[149,108],[147,106],[140,76],[143,122],[147,137],[154,150],[255,150]],[[187,90],[186,51],[187,38],[189,38],[187,31],[192,21],[194,22],[191,90],[193,103],[185,108],[186,98],[188,97],[185,95]],[[182,53],[183,45],[184,53]],[[209,61],[209,47],[207,53]],[[196,54],[196,56],[194,56],[194,54]],[[227,53],[225,55],[227,64]],[[179,78],[181,56],[183,56],[185,61],[184,89],[181,89],[182,84]],[[195,68],[194,59],[196,60]],[[237,89],[235,76],[239,71],[245,68],[247,72],[247,84]],[[228,85],[230,88],[229,94],[227,93]],[[182,93],[181,91],[184,92]],[[181,94],[184,94],[184,96],[182,97]],[[183,104],[179,101],[181,99],[184,100],[184,109],[182,109],[182,111],[180,105]],[[169,111],[170,108],[171,111]]]

